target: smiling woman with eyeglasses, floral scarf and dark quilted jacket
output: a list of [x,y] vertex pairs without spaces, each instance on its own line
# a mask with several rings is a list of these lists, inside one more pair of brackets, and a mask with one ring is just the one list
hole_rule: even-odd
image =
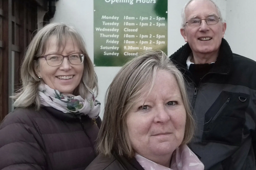
[[93,64],[81,35],[50,23],[32,39],[0,126],[0,169],[85,169],[101,120]]

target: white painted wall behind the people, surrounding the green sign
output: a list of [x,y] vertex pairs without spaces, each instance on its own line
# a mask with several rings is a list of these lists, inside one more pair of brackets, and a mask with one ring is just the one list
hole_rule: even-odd
[[[102,0],[95,0],[102,1]],[[168,54],[173,54],[185,42],[180,35],[181,10],[187,0],[168,0]],[[256,42],[256,6],[255,0],[214,0],[227,22],[225,38],[232,51],[256,60],[253,53]],[[93,61],[93,0],[59,0],[56,2],[56,13],[51,22],[65,22],[75,26],[83,35],[87,43],[89,56]],[[38,13],[38,23],[42,20],[43,13]],[[40,25],[40,24],[39,24]],[[103,116],[104,96],[114,76],[120,67],[95,67],[99,83],[98,100],[102,103],[100,116]]]

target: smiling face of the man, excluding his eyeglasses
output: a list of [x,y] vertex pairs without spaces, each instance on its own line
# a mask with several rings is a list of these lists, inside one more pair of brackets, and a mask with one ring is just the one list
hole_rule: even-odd
[[[191,18],[205,19],[212,15],[220,17],[216,6],[207,0],[193,1],[185,9],[186,21]],[[216,54],[225,30],[225,22],[219,21],[216,25],[207,25],[205,20],[202,20],[200,26],[189,27],[186,23],[180,31],[194,54]]]

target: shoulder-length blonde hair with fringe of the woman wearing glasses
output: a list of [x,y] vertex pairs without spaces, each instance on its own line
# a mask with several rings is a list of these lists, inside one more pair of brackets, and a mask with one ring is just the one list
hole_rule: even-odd
[[65,46],[66,39],[71,37],[77,43],[79,50],[84,54],[84,69],[80,84],[74,90],[74,95],[81,95],[86,99],[88,92],[96,90],[98,93],[97,77],[94,72],[93,63],[86,51],[86,45],[79,32],[71,26],[64,23],[49,23],[47,26],[37,32],[32,39],[26,51],[22,68],[20,70],[20,78],[22,88],[12,96],[14,99],[14,107],[29,107],[35,104],[36,108],[40,108],[38,95],[38,85],[40,79],[36,75],[35,68],[38,66],[37,56],[43,55],[47,50],[48,40],[56,36],[58,47]]

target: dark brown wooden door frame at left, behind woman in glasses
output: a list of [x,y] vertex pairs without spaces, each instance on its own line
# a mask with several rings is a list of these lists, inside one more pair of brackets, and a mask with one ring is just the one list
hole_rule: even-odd
[[[0,122],[11,111],[12,85],[19,87],[20,65],[37,29],[37,7],[47,11],[47,0],[0,0],[2,39],[0,39]],[[0,6],[1,7],[1,6]],[[30,15],[27,11],[31,11]],[[1,53],[2,52],[2,53]],[[12,52],[14,60],[12,60]],[[1,55],[2,54],[2,55]],[[13,65],[13,63],[14,65]],[[12,77],[14,75],[14,78]],[[11,80],[13,79],[13,80]]]

